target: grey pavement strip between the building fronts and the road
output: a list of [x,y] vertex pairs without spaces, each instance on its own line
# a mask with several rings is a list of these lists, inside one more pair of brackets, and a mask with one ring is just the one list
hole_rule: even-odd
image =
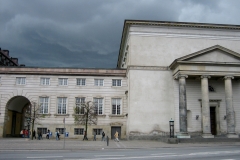
[[177,147],[211,147],[211,146],[236,146],[240,142],[210,142],[210,143],[178,143],[168,144],[153,140],[120,140],[115,142],[106,141],[82,141],[81,139],[65,138],[56,141],[55,139],[30,140],[28,138],[0,138],[1,151],[62,151],[62,150],[103,150],[103,149],[147,149],[147,148],[177,148]]

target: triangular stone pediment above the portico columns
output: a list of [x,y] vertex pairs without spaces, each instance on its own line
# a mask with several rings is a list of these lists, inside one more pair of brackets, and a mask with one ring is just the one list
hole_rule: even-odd
[[204,50],[178,58],[177,61],[240,63],[240,54],[215,45]]

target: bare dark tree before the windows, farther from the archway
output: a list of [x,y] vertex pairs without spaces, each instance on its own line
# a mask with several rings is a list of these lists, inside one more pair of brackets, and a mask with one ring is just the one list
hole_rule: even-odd
[[97,124],[97,112],[95,104],[91,101],[86,103],[76,103],[74,107],[74,122],[78,125],[85,125],[85,134],[87,137],[88,125]]

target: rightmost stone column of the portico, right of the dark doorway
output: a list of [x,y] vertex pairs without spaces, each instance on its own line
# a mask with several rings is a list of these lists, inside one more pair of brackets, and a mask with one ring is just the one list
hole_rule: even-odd
[[227,117],[227,137],[238,138],[235,133],[235,121],[232,99],[232,79],[233,76],[225,76],[225,97],[226,97],[226,117]]

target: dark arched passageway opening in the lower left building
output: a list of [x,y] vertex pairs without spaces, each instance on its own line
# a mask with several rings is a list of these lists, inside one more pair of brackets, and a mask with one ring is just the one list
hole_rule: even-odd
[[24,128],[27,129],[25,111],[30,104],[30,101],[23,96],[15,96],[8,101],[4,125],[5,137],[20,137],[20,131]]

